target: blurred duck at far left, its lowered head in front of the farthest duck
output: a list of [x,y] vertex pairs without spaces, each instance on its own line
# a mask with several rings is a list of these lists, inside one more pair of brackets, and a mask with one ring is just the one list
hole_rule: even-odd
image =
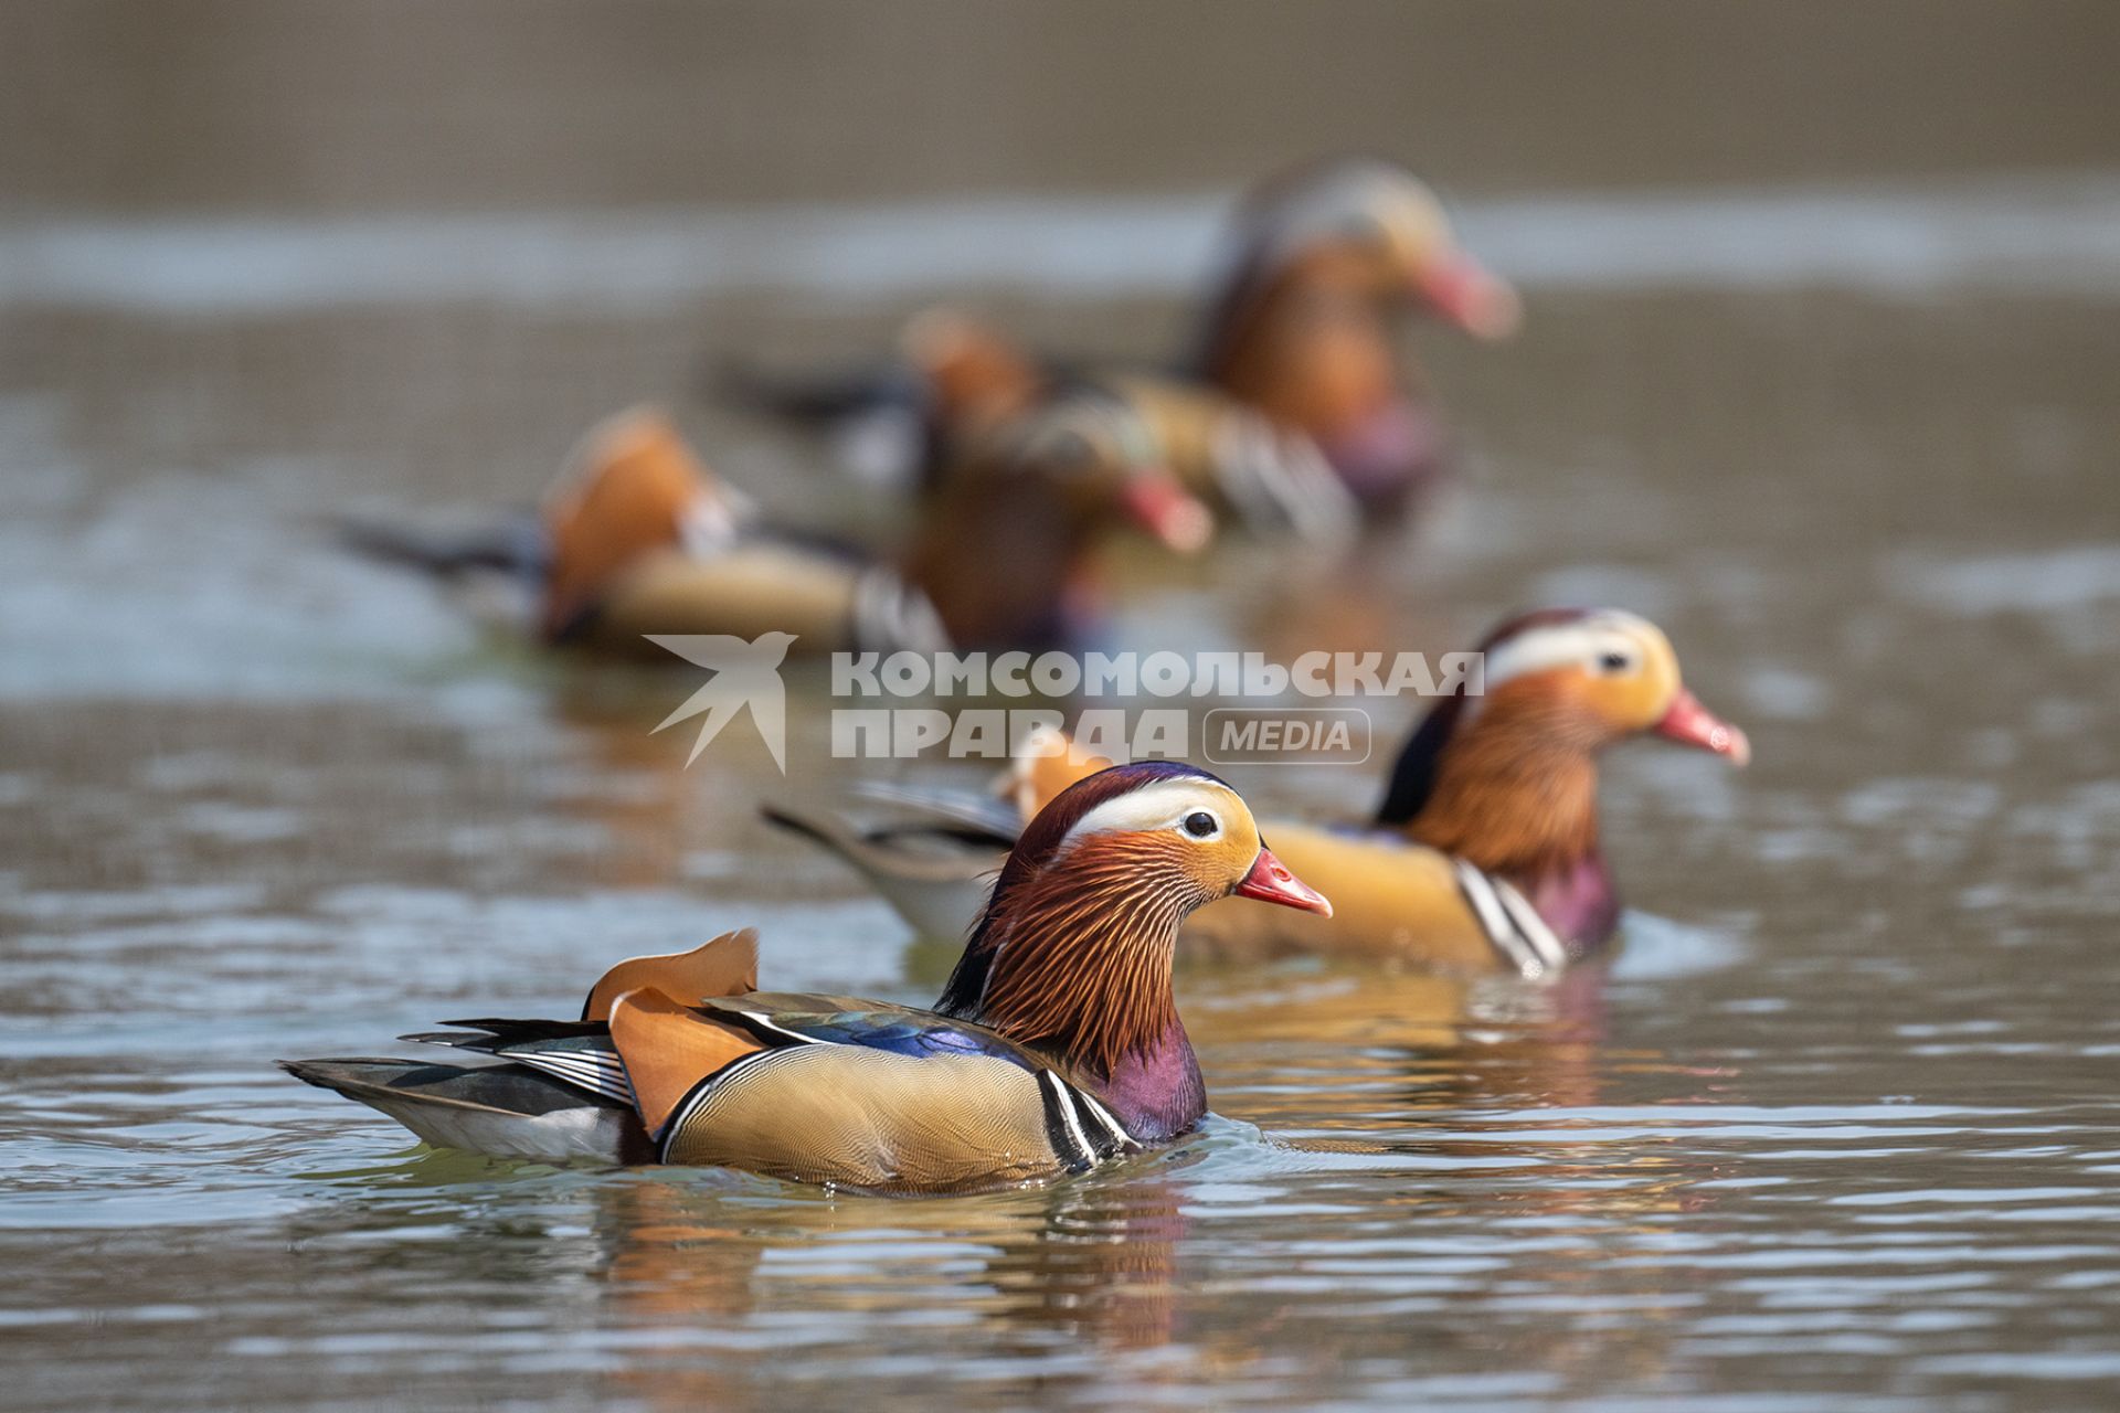
[[1066,646],[1094,631],[1098,549],[1138,527],[1198,551],[1213,513],[1124,403],[1075,392],[954,449],[895,557],[765,523],[655,409],[598,426],[536,515],[471,536],[356,525],[443,576],[502,570],[549,644],[651,655],[651,633],[793,633],[797,655]]

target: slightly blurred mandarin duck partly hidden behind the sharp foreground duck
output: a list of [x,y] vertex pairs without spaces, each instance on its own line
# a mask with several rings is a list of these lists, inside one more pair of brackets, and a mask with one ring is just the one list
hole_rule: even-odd
[[[1620,896],[1598,835],[1603,750],[1660,735],[1745,765],[1751,746],[1685,688],[1668,638],[1630,612],[1522,614],[1482,652],[1484,693],[1437,701],[1370,822],[1268,822],[1289,866],[1333,898],[1333,917],[1208,909],[1185,928],[1187,955],[1329,953],[1543,977],[1611,938]],[[916,930],[950,936],[977,911],[1018,822],[1100,765],[1045,739],[999,797],[886,788],[876,794],[895,813],[863,824],[778,803],[765,813],[850,862]]]

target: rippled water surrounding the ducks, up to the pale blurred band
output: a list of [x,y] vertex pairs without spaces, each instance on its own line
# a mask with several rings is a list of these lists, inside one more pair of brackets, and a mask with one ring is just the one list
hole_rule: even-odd
[[[876,345],[922,282],[545,303],[430,258],[403,297],[235,267],[263,294],[201,303],[180,222],[112,227],[119,294],[11,267],[0,1405],[2109,1407],[2114,180],[1605,195],[1565,244],[1533,218],[1558,199],[1488,203],[1531,324],[1423,337],[1469,485],[1420,553],[1128,561],[1115,640],[1444,648],[1611,602],[1671,629],[1753,769],[1609,761],[1635,905],[1609,968],[1187,968],[1206,1131],[920,1201],[426,1152],[269,1061],[566,1010],[608,960],[736,924],[774,985],[933,996],[948,947],[753,820],[763,750],[687,771],[649,733],[683,674],[541,661],[322,532],[526,498],[591,417],[729,352]],[[1132,273],[994,307],[1166,345],[1183,246],[1128,225],[1153,203],[1066,210]],[[1204,208],[1170,210],[1194,239]],[[676,218],[570,220],[608,256]],[[276,222],[250,229],[329,261]],[[394,216],[371,269],[452,229]],[[545,250],[538,218],[492,229]],[[1685,278],[1628,273],[1675,229]],[[1893,239],[1948,278],[1863,275],[1904,269]],[[157,250],[176,284],[142,286]],[[611,288],[545,254],[547,288]],[[1005,254],[994,280],[1035,280]],[[867,511],[799,443],[685,422],[767,500]],[[793,699],[789,788],[823,788],[823,684]],[[1236,784],[1261,811],[1370,794]]]

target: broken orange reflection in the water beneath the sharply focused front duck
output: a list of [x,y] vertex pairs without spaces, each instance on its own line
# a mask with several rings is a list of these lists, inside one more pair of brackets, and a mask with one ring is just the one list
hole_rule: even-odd
[[[695,1332],[801,1311],[844,1332],[924,1292],[979,1324],[1062,1335],[1107,1352],[1179,1339],[1179,1246],[1187,1231],[1168,1159],[1045,1188],[960,1199],[784,1201],[731,1195],[719,1176],[642,1174],[596,1188],[611,1316],[651,1335],[615,1371],[613,1392],[651,1407],[742,1405],[784,1375],[784,1352],[740,1341],[702,1349]],[[1181,1155],[1174,1163],[1183,1165]],[[731,1377],[738,1388],[731,1388]]]

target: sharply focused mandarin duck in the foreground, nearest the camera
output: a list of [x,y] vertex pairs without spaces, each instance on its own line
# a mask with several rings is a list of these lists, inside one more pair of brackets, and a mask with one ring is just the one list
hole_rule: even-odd
[[303,1059],[297,1078],[422,1140],[500,1157],[738,1167],[878,1193],[1083,1171],[1200,1123],[1170,994],[1179,924],[1217,898],[1327,915],[1206,771],[1143,761],[1022,830],[933,1010],[757,991],[757,936],[604,972],[577,1021],[407,1036],[490,1063]]

